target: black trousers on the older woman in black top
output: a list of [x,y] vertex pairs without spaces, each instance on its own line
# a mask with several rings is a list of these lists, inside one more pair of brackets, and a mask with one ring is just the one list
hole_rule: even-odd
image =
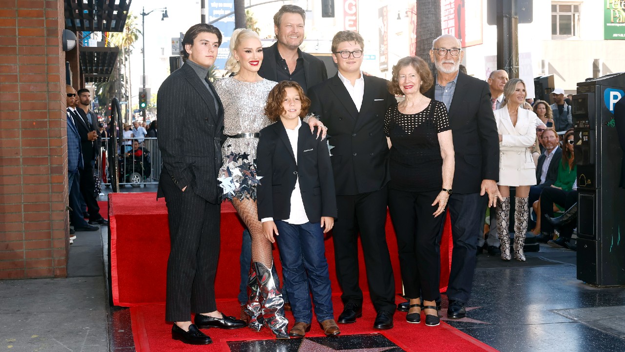
[[441,249],[439,236],[445,214],[432,215],[440,191],[406,192],[389,188],[389,212],[397,235],[401,279],[407,298],[436,301],[439,291]]

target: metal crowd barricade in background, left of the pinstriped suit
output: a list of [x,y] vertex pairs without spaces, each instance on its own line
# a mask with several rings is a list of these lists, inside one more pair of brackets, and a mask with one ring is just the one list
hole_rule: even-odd
[[[119,170],[119,184],[139,187],[146,184],[158,184],[161,174],[161,152],[156,138],[124,138],[118,147],[118,158],[108,158],[110,138],[102,138],[96,172],[104,186],[111,185],[109,162],[116,159]],[[134,142],[138,148],[134,149]],[[113,143],[111,141],[111,143]]]

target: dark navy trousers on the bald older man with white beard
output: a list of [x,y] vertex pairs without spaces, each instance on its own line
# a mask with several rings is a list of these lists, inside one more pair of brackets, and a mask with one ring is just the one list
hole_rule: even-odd
[[475,272],[477,239],[484,234],[484,212],[488,197],[479,193],[452,194],[449,197],[451,236],[454,249],[447,298],[467,303]]

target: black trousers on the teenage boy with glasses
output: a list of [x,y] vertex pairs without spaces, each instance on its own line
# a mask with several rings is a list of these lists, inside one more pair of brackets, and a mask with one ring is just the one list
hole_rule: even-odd
[[395,311],[395,281],[386,244],[388,190],[358,195],[337,195],[338,219],[334,223],[334,261],[344,304],[362,304],[358,285],[358,232],[362,242],[369,293],[376,311]]

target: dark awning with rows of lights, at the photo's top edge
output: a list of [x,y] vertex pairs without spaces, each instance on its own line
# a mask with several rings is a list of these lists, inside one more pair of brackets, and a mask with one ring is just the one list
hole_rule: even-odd
[[65,0],[65,28],[74,32],[123,32],[133,0]]

